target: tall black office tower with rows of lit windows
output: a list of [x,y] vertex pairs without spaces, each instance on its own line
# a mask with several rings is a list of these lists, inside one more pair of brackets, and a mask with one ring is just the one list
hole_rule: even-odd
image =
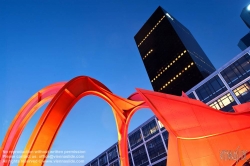
[[155,91],[180,95],[215,71],[190,31],[161,7],[134,38]]

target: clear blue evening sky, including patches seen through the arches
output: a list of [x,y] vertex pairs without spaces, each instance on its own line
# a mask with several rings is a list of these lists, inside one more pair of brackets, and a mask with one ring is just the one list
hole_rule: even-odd
[[[219,68],[240,53],[237,43],[249,30],[239,15],[248,3],[0,0],[0,141],[21,106],[49,84],[87,75],[122,97],[136,87],[151,90],[134,35],[159,5],[191,31]],[[17,149],[24,148],[43,109],[28,124]],[[149,110],[136,113],[130,130],[151,116]],[[52,150],[85,150],[87,163],[116,141],[109,105],[88,96],[72,109]]]

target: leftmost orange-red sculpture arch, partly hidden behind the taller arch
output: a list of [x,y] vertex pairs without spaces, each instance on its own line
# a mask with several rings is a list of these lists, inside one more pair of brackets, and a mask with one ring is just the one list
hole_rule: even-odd
[[[10,127],[3,139],[1,151],[0,151],[0,161],[3,161],[3,151],[14,151],[16,144],[20,138],[20,135],[31,119],[31,117],[36,113],[36,111],[43,106],[45,103],[49,102],[54,95],[65,85],[64,82],[55,83],[49,85],[37,93],[35,93],[19,110],[14,120],[11,122]],[[10,160],[12,154],[8,154],[8,160],[6,162],[1,162],[0,166],[10,165]]]

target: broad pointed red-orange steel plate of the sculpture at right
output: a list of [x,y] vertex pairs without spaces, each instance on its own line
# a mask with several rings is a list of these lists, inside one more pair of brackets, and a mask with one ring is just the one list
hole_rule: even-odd
[[167,165],[242,166],[249,159],[249,110],[227,113],[187,97],[137,91],[169,131]]

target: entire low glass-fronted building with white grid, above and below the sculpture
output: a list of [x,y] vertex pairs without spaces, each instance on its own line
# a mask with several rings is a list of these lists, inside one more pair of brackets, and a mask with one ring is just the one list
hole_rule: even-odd
[[[226,112],[232,106],[250,101],[250,47],[191,88],[186,94]],[[165,166],[168,132],[152,117],[128,135],[130,166]],[[86,166],[118,166],[117,143]]]

